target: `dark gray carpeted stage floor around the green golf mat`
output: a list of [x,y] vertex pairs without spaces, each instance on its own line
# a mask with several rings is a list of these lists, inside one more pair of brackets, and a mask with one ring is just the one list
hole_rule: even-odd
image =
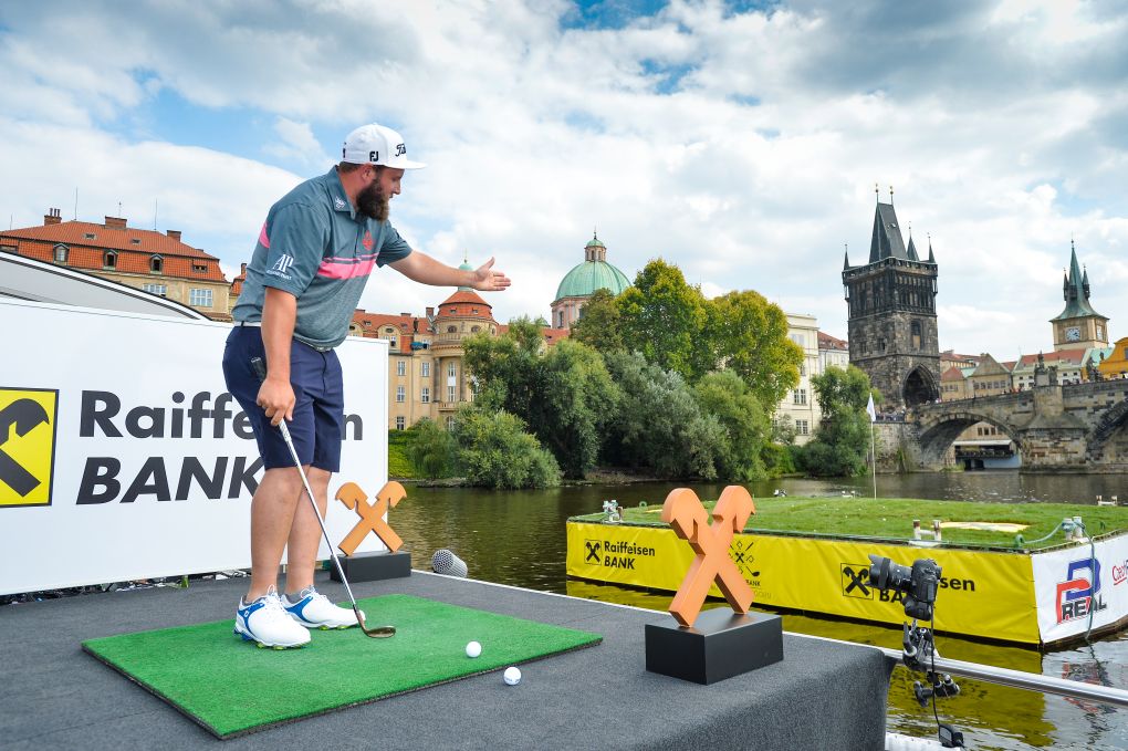
[[[319,574],[336,601],[340,584]],[[414,572],[358,584],[603,636],[499,673],[219,741],[85,654],[85,639],[232,618],[245,580],[0,608],[3,749],[881,749],[890,664],[876,650],[797,635],[784,662],[698,686],[647,673],[643,626],[669,618],[589,600]],[[374,617],[373,622],[379,618]],[[231,638],[235,638],[233,636]],[[358,635],[358,638],[363,638]],[[254,648],[248,645],[248,648]]]

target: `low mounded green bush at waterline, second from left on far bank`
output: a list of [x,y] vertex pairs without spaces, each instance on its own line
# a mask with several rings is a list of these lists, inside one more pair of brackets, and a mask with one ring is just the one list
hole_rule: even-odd
[[559,485],[553,454],[506,412],[466,405],[458,410],[453,436],[459,471],[468,485],[514,489]]

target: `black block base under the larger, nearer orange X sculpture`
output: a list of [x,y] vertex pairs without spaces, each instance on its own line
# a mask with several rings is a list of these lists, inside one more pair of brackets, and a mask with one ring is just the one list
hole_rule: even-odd
[[646,624],[646,670],[695,683],[715,683],[783,660],[783,619],[765,612],[738,616],[705,610],[693,628],[671,616]]

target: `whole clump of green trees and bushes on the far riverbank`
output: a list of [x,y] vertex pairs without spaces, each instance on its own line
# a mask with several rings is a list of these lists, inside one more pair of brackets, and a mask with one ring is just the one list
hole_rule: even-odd
[[856,369],[816,386],[831,412],[812,450],[793,444],[794,431],[774,436],[772,412],[799,383],[803,351],[783,310],[757,292],[710,300],[656,259],[618,297],[592,295],[570,338],[546,347],[544,326],[520,318],[501,336],[464,341],[475,399],[448,435],[434,425],[409,431],[417,475],[545,487],[597,467],[738,483],[796,468],[867,470],[857,399],[864,419],[869,380]]

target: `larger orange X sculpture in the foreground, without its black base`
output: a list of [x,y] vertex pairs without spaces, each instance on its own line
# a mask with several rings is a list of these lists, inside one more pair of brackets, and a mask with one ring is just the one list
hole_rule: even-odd
[[729,544],[755,513],[752,496],[739,485],[730,485],[721,493],[713,506],[712,525],[705,506],[689,488],[679,487],[666,496],[662,521],[672,527],[678,537],[689,540],[697,553],[670,603],[670,615],[682,626],[691,627],[697,620],[714,580],[733,611],[741,615],[748,612],[752,604],[752,590],[729,557]]

